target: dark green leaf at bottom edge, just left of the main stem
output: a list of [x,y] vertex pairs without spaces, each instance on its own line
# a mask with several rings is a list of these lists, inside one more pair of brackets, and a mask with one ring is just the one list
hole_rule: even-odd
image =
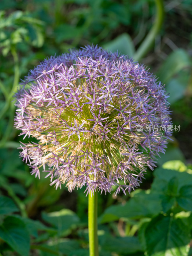
[[[45,248],[45,250],[43,250]],[[51,249],[52,251],[58,253],[58,255],[71,255],[71,253],[75,250],[80,249],[80,243],[77,240],[72,240],[68,238],[60,238],[57,240],[49,241],[48,244],[42,246],[42,250],[40,248],[41,256],[52,256],[52,253],[46,251],[47,249]],[[75,255],[75,254],[72,254]]]

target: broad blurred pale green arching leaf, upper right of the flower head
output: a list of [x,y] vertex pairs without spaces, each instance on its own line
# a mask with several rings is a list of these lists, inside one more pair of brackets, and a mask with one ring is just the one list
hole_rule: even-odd
[[188,53],[183,49],[178,49],[167,57],[157,76],[161,82],[166,84],[173,75],[184,68],[191,67],[191,65],[192,62]]

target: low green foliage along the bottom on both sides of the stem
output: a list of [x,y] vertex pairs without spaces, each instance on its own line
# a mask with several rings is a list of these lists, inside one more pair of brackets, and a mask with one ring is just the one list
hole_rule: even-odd
[[[122,202],[100,215],[100,255],[190,255],[192,168],[169,161],[154,171],[154,177],[151,189],[137,189],[127,202],[119,196]],[[73,211],[42,212],[42,224],[18,215],[9,197],[0,200],[2,251],[27,256],[31,248],[43,256],[88,255],[87,222]]]

